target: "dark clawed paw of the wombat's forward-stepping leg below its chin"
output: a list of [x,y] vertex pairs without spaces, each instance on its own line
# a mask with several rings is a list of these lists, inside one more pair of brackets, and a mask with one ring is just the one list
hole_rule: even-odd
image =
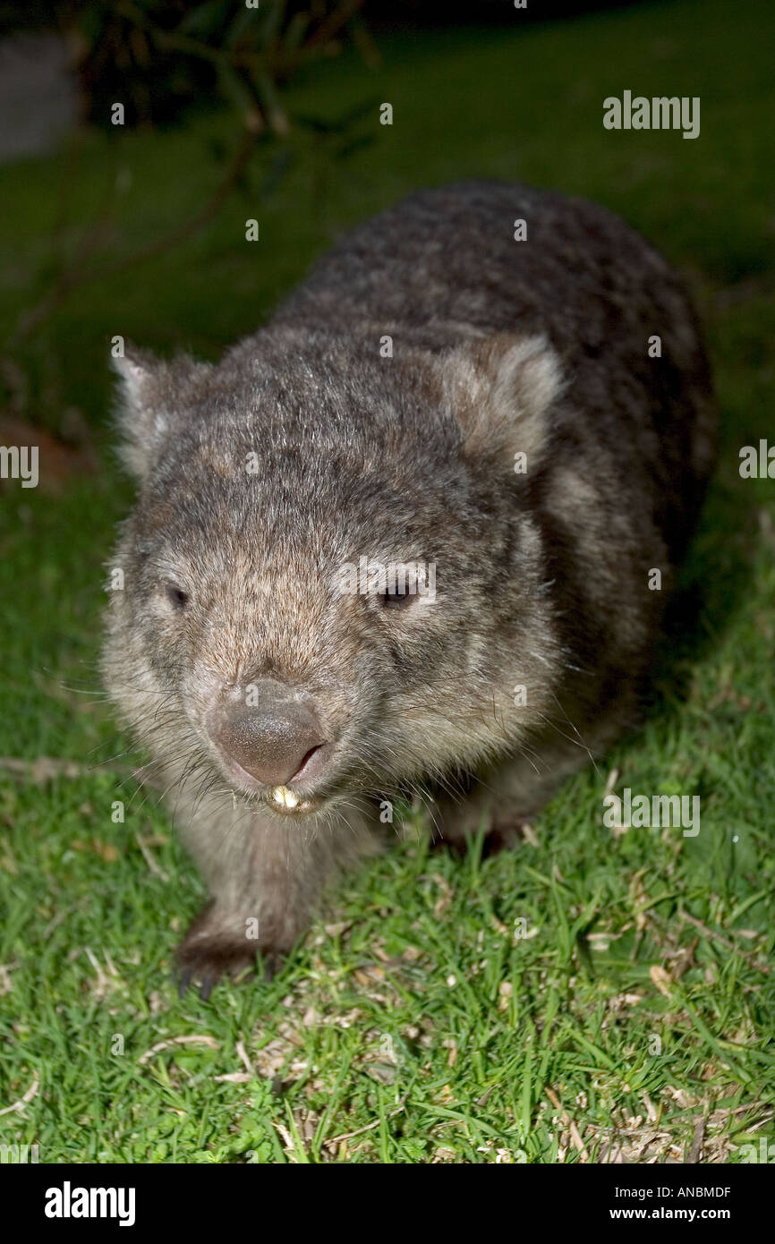
[[282,955],[272,947],[249,940],[244,934],[235,937],[213,917],[211,907],[205,907],[175,953],[180,996],[192,983],[198,982],[207,1001],[221,977],[239,977],[246,969],[255,970],[258,952],[264,957],[265,979],[271,980],[282,963]]

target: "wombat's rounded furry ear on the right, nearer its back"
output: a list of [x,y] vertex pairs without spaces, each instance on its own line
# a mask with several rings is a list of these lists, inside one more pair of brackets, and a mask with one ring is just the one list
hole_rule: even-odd
[[[450,366],[452,364],[452,366]],[[466,455],[503,455],[527,464],[540,455],[549,409],[565,388],[546,337],[498,333],[464,346],[444,362],[447,398],[463,428]]]

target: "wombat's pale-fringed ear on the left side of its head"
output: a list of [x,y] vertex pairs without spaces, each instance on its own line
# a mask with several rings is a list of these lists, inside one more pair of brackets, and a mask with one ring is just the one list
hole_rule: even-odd
[[149,351],[128,343],[123,357],[111,362],[118,374],[117,424],[122,458],[142,481],[172,423],[195,396],[210,364],[187,357],[163,362]]

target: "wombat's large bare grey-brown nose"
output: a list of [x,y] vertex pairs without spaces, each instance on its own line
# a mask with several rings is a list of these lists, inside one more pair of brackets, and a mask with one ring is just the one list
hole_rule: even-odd
[[267,786],[284,786],[325,741],[313,709],[269,678],[254,683],[245,702],[228,705],[213,733],[233,760]]

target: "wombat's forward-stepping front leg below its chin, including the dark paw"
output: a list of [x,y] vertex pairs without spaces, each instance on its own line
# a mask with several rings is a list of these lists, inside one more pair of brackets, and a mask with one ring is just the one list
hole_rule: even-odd
[[192,923],[177,952],[180,988],[200,982],[204,998],[221,975],[255,967],[261,952],[267,974],[281,964],[310,922],[331,875],[373,847],[366,820],[338,824],[280,822],[271,814],[229,814],[204,820],[198,811],[183,827],[211,901]]

